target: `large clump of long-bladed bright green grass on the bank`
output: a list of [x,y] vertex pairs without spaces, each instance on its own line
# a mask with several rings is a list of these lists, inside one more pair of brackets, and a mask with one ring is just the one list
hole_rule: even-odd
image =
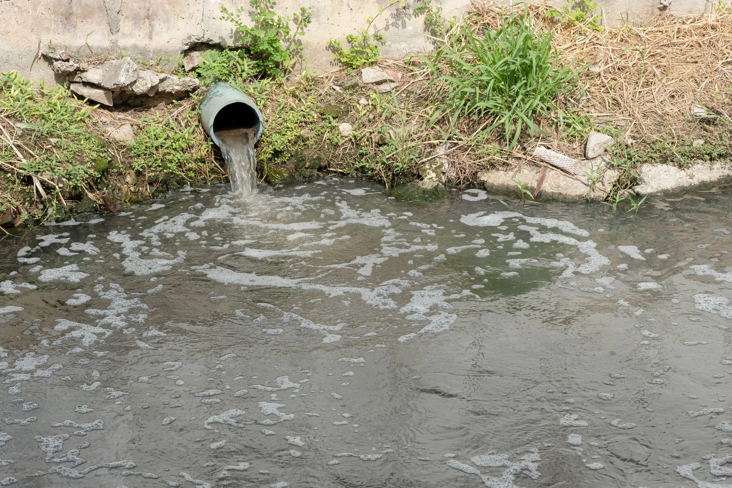
[[564,66],[551,46],[551,32],[539,33],[524,15],[509,15],[498,29],[474,34],[464,42],[423,57],[433,70],[430,83],[438,105],[433,120],[449,116],[485,119],[485,130],[501,127],[509,149],[523,129],[548,134],[535,120],[561,110],[561,101],[581,90],[578,75],[586,66]]

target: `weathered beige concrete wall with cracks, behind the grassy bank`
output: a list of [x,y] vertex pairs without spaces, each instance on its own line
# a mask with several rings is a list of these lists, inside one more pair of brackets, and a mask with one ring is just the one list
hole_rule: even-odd
[[[463,15],[470,0],[435,0],[442,4],[444,15]],[[556,3],[564,4],[564,1]],[[600,0],[608,25],[621,18],[638,22],[661,12],[659,0]],[[33,80],[53,80],[49,64],[33,62],[39,48],[48,43],[65,46],[84,55],[119,56],[154,60],[158,56],[176,56],[199,42],[234,44],[234,30],[220,20],[222,6],[234,10],[247,0],[0,0],[0,72],[18,70]],[[365,26],[364,19],[376,15],[377,6],[388,0],[280,0],[277,12],[289,15],[300,7],[309,7],[313,23],[304,37],[309,70],[328,71],[336,67],[326,42],[335,37],[345,40]],[[410,51],[430,49],[422,36],[422,19],[411,10],[417,0],[408,0],[407,8],[392,7],[376,26],[388,42],[383,56],[404,56]],[[699,13],[708,8],[706,0],[673,0],[674,12]],[[32,64],[32,66],[31,66]],[[299,68],[298,68],[299,69]]]

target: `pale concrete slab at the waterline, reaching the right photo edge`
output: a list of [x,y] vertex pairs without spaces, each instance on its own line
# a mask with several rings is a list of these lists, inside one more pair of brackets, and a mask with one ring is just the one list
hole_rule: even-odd
[[654,195],[683,192],[695,187],[710,187],[732,181],[732,166],[727,163],[698,162],[690,168],[670,165],[641,165],[641,181],[633,192],[638,195]]

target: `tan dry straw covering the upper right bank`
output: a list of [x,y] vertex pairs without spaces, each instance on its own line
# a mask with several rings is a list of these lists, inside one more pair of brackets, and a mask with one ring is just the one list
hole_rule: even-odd
[[[525,8],[488,3],[474,8],[471,24],[497,26],[507,13]],[[594,31],[556,23],[546,15],[553,10],[548,4],[528,8],[537,29],[552,31],[561,57],[592,64],[580,76],[587,89],[580,107],[630,138],[652,142],[664,131],[683,135],[694,104],[729,118],[732,10],[665,14],[642,26]]]

